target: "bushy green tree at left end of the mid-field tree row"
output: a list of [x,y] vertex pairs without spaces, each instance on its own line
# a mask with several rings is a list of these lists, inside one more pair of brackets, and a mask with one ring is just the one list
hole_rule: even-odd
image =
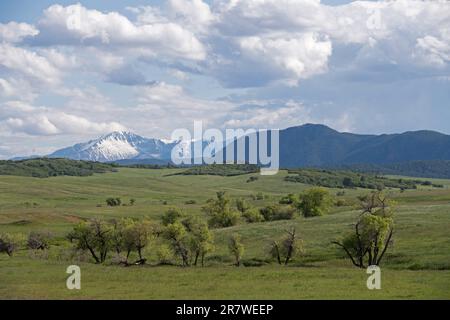
[[230,199],[224,191],[217,192],[216,199],[209,199],[203,211],[209,216],[209,225],[215,228],[234,226],[240,218],[239,212],[231,209]]

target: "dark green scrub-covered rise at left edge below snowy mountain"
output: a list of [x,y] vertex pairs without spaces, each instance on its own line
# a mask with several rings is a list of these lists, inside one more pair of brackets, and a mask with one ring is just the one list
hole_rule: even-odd
[[116,170],[112,164],[69,159],[39,158],[0,161],[0,175],[48,178],[56,176],[91,176]]

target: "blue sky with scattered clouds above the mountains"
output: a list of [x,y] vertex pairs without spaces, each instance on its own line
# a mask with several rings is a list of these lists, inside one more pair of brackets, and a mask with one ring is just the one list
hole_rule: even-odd
[[0,159],[199,120],[450,134],[450,2],[0,2]]

